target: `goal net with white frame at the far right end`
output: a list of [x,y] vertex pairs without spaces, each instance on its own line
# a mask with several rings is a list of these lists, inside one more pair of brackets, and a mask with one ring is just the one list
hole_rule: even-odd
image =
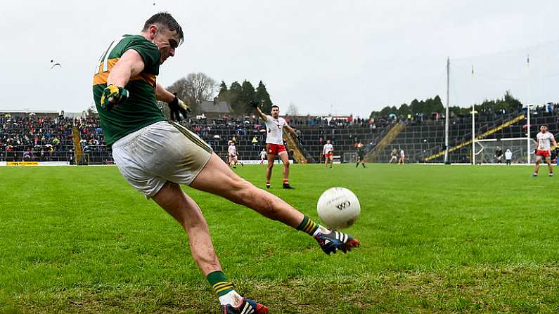
[[505,152],[510,150],[513,153],[511,162],[513,164],[527,164],[528,155],[530,162],[534,162],[536,150],[536,141],[529,139],[530,148],[528,150],[527,138],[501,138],[491,140],[475,140],[475,163],[476,164],[496,164],[495,150],[497,147],[503,150],[501,162],[506,162]]

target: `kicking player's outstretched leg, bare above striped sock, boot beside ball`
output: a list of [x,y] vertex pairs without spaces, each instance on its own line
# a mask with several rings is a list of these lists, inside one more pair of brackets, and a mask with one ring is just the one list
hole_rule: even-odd
[[[215,184],[215,182],[220,184]],[[283,199],[256,188],[250,182],[240,178],[215,154],[191,183],[191,187],[220,195],[231,202],[254,209],[268,218],[301,230],[314,237],[326,254],[335,253],[338,250],[347,252],[352,247],[359,247],[359,241],[353,237],[335,230],[328,230],[314,223]]]

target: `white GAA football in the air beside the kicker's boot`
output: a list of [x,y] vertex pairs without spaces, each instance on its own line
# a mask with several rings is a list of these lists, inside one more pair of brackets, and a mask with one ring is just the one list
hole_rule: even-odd
[[320,196],[316,211],[328,227],[342,229],[353,225],[359,218],[361,204],[347,188],[329,188]]

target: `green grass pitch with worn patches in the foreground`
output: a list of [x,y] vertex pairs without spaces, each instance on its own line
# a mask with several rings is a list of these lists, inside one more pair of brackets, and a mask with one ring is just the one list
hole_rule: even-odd
[[[361,241],[316,242],[219,197],[203,209],[226,275],[272,313],[559,312],[558,178],[524,166],[294,165],[270,192],[316,221],[326,188],[361,201]],[[264,167],[236,172],[263,187]],[[216,313],[165,211],[116,167],[0,168],[0,313]]]

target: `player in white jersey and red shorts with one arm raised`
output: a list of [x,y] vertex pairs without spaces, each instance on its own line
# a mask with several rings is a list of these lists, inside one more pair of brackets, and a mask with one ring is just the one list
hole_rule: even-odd
[[258,107],[258,103],[251,101],[250,105],[255,107],[258,115],[266,124],[266,151],[268,152],[268,168],[266,168],[266,188],[270,188],[271,169],[274,167],[274,160],[278,155],[283,162],[283,188],[292,189],[289,185],[289,156],[283,145],[283,129],[287,130],[293,138],[297,137],[295,130],[288,126],[285,119],[279,116],[279,107],[271,106],[271,115],[264,115]]

